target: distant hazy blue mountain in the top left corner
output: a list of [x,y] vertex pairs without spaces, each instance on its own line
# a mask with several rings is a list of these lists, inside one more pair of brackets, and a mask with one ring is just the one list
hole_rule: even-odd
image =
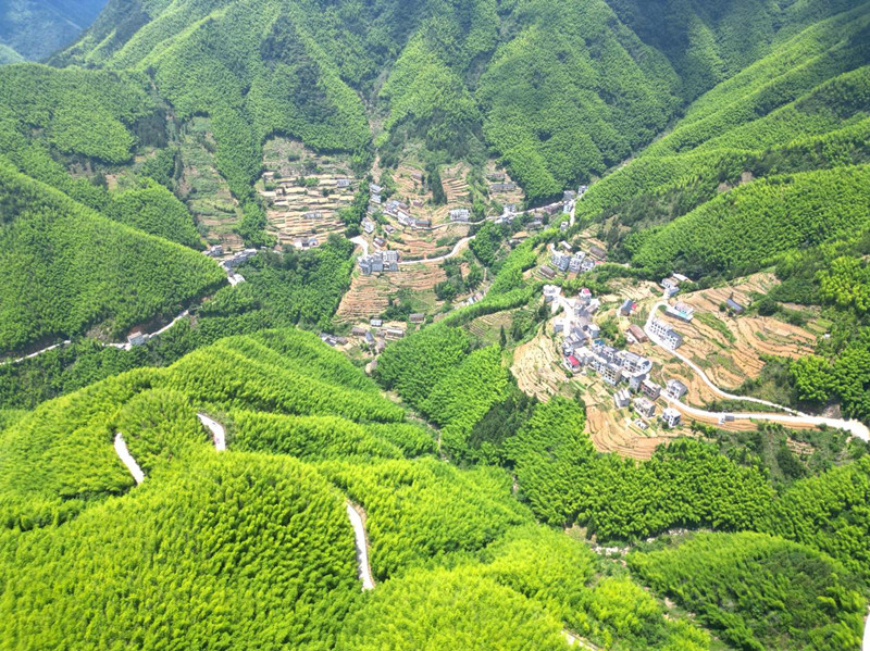
[[71,45],[105,0],[2,0],[0,63],[38,61]]

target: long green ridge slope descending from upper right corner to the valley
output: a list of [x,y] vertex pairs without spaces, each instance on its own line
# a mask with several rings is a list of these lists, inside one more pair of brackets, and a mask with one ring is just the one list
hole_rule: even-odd
[[[681,236],[704,239],[694,234],[693,224],[705,222],[699,213],[687,221],[655,231],[650,226],[682,217],[722,192],[761,197],[761,189],[749,186],[762,177],[790,172],[830,170],[838,177],[849,172],[847,165],[870,160],[867,148],[868,80],[870,79],[870,5],[862,3],[850,11],[800,32],[773,53],[718,85],[694,102],[672,130],[645,149],[629,164],[595,184],[577,209],[585,220],[618,216],[618,226],[607,234],[611,245],[625,245],[623,255],[639,255],[638,262],[654,264],[649,251],[659,248],[676,231]],[[736,186],[749,184],[745,188]],[[776,183],[771,178],[771,183]],[[730,202],[730,195],[717,201]],[[844,202],[846,211],[860,211],[848,196],[826,197]],[[745,214],[754,208],[742,203]],[[716,210],[710,208],[709,210]],[[761,211],[761,206],[757,206]],[[800,214],[794,214],[799,218]],[[736,217],[750,235],[751,222]],[[782,226],[781,226],[782,227]],[[641,233],[639,237],[629,233]],[[757,233],[760,235],[760,231]],[[770,249],[770,256],[795,246],[811,246],[787,227],[781,231],[791,243]],[[831,234],[836,235],[835,233]],[[734,238],[735,234],[723,234]],[[641,251],[646,251],[641,253]],[[662,249],[663,251],[663,249]],[[664,258],[670,253],[662,253]],[[768,258],[770,260],[770,258]],[[680,261],[678,266],[685,264]],[[758,268],[762,261],[734,259],[733,264],[701,264],[685,267],[689,272]],[[658,265],[658,266],[656,266]],[[694,266],[693,266],[694,265]],[[748,266],[747,266],[748,265]],[[655,270],[661,266],[655,263]]]

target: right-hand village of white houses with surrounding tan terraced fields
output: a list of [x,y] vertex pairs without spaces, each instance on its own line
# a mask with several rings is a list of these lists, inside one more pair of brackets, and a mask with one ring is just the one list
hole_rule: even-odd
[[734,395],[761,374],[767,359],[809,354],[829,326],[812,312],[794,325],[751,311],[776,285],[772,274],[704,290],[679,273],[657,283],[611,283],[604,296],[577,290],[587,270],[606,259],[604,242],[589,231],[539,255],[534,276],[544,283],[550,317],[546,329],[518,347],[511,366],[529,395],[582,400],[598,450],[648,459],[661,442],[697,436],[696,423],[735,431],[765,421],[798,429],[849,427]]

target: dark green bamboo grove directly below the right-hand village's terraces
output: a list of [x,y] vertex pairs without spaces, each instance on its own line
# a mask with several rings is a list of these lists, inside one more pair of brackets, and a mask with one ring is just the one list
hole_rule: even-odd
[[751,527],[773,490],[756,467],[741,467],[691,439],[656,450],[639,465],[599,455],[582,408],[539,405],[507,443],[522,496],[540,519],[586,525],[601,539],[636,539],[674,526]]

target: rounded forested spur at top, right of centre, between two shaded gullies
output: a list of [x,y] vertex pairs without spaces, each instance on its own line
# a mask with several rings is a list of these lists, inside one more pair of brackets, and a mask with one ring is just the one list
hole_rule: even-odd
[[519,18],[477,96],[487,140],[535,201],[649,140],[679,104],[679,79],[604,1],[539,0]]

